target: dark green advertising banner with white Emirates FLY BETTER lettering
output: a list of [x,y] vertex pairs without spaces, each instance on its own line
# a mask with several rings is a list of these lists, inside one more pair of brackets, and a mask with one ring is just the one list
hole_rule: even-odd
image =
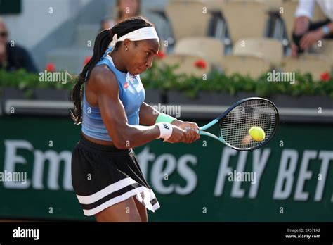
[[[0,117],[0,126],[0,218],[93,220],[72,188],[81,126],[20,116]],[[203,136],[192,144],[155,140],[134,151],[161,205],[150,221],[333,220],[332,127],[282,124],[269,144],[249,152]]]

